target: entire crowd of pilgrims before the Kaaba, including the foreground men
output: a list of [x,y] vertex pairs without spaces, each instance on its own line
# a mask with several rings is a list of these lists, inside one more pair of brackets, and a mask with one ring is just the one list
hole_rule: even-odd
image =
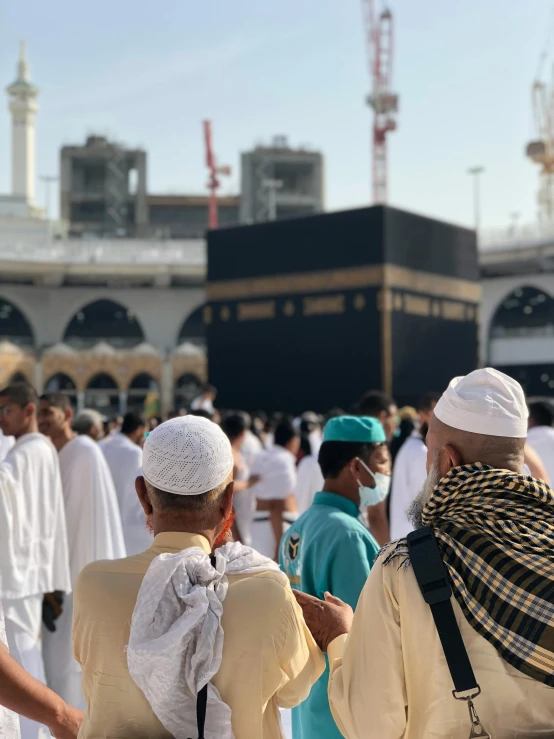
[[[399,574],[409,568],[396,542],[420,526],[435,529],[445,561],[454,552],[449,571],[470,572],[454,578],[452,600],[474,668],[485,673],[494,735],[554,737],[554,568],[537,565],[542,590],[527,586],[535,565],[511,552],[521,546],[533,562],[554,564],[554,405],[526,401],[502,373],[456,378],[415,407],[368,391],[324,416],[222,410],[206,385],[165,422],[136,412],[108,420],[92,409],[75,416],[64,394],[39,399],[13,384],[0,390],[0,430],[2,739],[477,732],[473,703],[468,719],[449,700],[448,666],[417,584]],[[476,475],[480,489],[488,470],[512,475],[501,485],[491,477],[482,493],[496,491],[498,512],[464,511],[456,529],[457,509],[439,515],[437,496],[454,505],[453,486]],[[485,510],[508,516],[510,534],[504,519],[485,522]],[[519,627],[494,613],[489,636],[489,606],[472,584],[477,544],[452,544],[468,532],[523,568],[506,575],[487,560],[477,578],[486,589],[500,571],[513,584],[512,620],[524,623],[516,637]],[[198,586],[209,597],[195,595]],[[518,588],[541,600],[540,629],[525,626]],[[502,599],[498,583],[487,597]],[[515,648],[498,644],[518,638],[519,662]]]

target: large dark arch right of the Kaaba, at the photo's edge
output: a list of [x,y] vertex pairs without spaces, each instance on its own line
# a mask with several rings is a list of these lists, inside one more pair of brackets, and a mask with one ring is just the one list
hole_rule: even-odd
[[554,297],[532,285],[521,285],[506,295],[496,308],[489,338],[554,335]]

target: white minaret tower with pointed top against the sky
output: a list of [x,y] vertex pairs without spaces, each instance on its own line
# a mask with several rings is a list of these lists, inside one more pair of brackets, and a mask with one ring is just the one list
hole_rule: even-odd
[[7,89],[12,114],[12,194],[35,199],[35,113],[38,87],[31,84],[25,43],[21,42],[17,78]]

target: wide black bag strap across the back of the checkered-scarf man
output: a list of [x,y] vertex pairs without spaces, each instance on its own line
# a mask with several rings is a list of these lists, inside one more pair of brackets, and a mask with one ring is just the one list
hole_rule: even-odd
[[450,602],[452,588],[433,529],[424,527],[408,534],[408,552],[421,594],[429,605],[454,683],[454,697],[481,692]]

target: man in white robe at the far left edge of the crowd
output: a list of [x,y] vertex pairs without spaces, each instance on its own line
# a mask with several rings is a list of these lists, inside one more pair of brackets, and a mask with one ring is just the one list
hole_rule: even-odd
[[[44,681],[40,633],[46,593],[71,589],[56,450],[37,426],[38,398],[27,384],[0,391],[0,428],[16,443],[0,463],[0,595],[14,658]],[[39,724],[22,720],[24,739]]]

